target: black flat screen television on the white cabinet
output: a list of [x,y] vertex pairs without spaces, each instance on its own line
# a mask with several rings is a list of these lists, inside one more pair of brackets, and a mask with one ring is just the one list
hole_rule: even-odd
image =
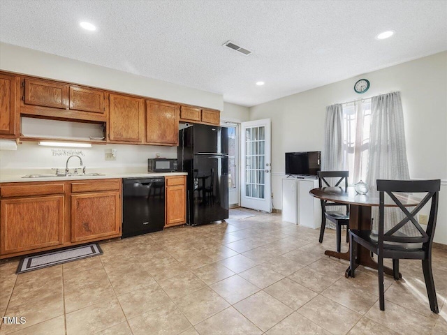
[[316,176],[320,171],[321,151],[286,152],[286,174]]

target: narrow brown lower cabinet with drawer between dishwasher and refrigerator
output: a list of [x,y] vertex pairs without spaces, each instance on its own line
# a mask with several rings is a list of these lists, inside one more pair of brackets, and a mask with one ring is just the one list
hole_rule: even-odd
[[186,176],[166,178],[165,227],[186,223]]

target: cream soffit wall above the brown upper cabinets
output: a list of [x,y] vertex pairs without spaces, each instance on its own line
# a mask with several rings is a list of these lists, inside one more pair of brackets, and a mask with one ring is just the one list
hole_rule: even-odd
[[0,69],[168,101],[223,109],[223,96],[103,66],[0,43]]

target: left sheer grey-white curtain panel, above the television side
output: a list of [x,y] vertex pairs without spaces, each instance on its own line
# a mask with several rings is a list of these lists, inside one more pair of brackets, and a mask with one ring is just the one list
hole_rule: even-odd
[[326,107],[322,171],[344,170],[343,108],[341,103]]

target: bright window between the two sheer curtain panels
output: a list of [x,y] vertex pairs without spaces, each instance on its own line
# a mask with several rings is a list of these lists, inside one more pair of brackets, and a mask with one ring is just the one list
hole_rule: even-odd
[[342,104],[344,166],[349,170],[349,184],[366,180],[371,99]]

